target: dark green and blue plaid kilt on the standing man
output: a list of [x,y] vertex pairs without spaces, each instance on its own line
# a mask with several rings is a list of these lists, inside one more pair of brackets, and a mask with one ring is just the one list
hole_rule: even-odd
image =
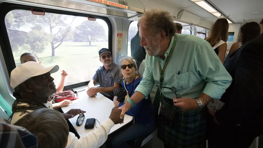
[[[180,111],[169,99],[161,95],[162,105],[175,111],[174,120],[158,116],[158,138],[172,148],[206,147],[206,107],[196,111]],[[172,99],[170,99],[172,100]]]

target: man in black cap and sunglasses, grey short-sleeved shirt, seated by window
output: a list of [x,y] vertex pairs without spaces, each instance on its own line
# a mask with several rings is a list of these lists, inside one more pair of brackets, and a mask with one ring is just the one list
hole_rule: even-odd
[[87,90],[87,95],[94,96],[97,93],[101,93],[113,100],[113,90],[119,88],[122,82],[120,68],[117,64],[112,63],[111,52],[107,48],[99,50],[99,61],[103,63],[103,66],[97,69],[92,79],[94,85],[99,81],[100,87],[91,87]]

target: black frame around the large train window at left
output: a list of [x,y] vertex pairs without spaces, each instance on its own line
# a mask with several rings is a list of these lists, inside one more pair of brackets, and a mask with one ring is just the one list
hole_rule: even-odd
[[[95,16],[97,19],[102,19],[105,21],[108,25],[108,45],[109,45],[109,50],[112,53],[112,25],[109,20],[109,18],[104,17],[104,16],[99,16],[99,15],[92,15],[88,13],[77,13],[77,12],[70,12],[70,11],[64,11],[64,10],[55,10],[55,9],[47,9],[47,8],[42,8],[42,7],[35,7],[35,6],[29,6],[29,5],[19,5],[19,4],[13,4],[13,3],[1,3],[0,4],[0,20],[3,20],[0,22],[0,46],[1,50],[3,52],[4,60],[5,60],[5,65],[7,67],[8,75],[10,78],[11,71],[15,69],[15,59],[13,56],[13,52],[11,49],[11,44],[9,41],[8,33],[7,33],[7,28],[5,26],[5,16],[7,13],[9,13],[12,10],[20,9],[20,10],[29,10],[33,9],[44,9],[46,13],[56,13],[56,14],[63,14],[63,15],[72,15],[72,16],[79,16],[79,17],[87,17],[89,16]],[[32,14],[33,15],[33,14]],[[95,72],[95,71],[94,71]],[[75,83],[72,85],[67,85],[64,86],[64,89],[73,89],[77,87],[83,87],[88,85],[89,81],[84,81],[81,83]]]

